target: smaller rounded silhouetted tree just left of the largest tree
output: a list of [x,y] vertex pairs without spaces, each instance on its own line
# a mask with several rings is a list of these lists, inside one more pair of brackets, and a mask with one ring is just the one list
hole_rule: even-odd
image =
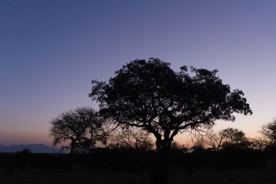
[[107,134],[102,127],[103,119],[92,108],[83,107],[63,112],[50,123],[53,144],[69,141],[69,145],[63,146],[62,149],[70,150],[70,153],[90,149],[97,141],[106,143]]

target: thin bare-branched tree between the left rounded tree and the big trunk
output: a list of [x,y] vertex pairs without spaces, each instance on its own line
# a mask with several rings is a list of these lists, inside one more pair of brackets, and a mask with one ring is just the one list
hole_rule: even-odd
[[153,143],[150,139],[150,133],[146,130],[140,130],[128,127],[117,131],[110,139],[112,147],[126,147],[130,149],[149,150]]

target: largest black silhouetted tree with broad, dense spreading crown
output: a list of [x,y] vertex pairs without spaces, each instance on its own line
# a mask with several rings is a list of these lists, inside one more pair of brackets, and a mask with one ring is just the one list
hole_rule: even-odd
[[175,72],[159,59],[137,59],[117,70],[108,83],[92,81],[89,96],[117,125],[151,132],[157,150],[166,154],[183,130],[210,127],[218,119],[235,121],[234,112],[252,114],[244,93],[231,92],[216,74],[187,66]]

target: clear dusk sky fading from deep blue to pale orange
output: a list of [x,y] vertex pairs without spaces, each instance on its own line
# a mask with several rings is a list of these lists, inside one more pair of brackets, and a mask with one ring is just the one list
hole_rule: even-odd
[[[49,121],[90,105],[91,80],[133,59],[218,69],[258,136],[276,116],[276,1],[0,1],[0,144],[45,143]],[[184,139],[178,138],[178,141]]]

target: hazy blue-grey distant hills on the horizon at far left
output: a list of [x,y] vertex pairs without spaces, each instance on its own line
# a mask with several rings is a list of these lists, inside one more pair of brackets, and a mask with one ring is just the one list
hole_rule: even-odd
[[23,149],[29,149],[32,153],[59,153],[61,150],[56,149],[55,147],[49,147],[44,144],[30,144],[30,145],[10,145],[4,146],[0,145],[0,152],[6,153],[15,153],[22,151]]

